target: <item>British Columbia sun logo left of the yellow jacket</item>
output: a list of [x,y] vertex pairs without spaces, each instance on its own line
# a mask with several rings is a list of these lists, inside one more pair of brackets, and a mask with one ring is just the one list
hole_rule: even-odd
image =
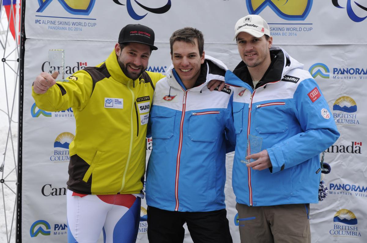
[[50,156],[52,162],[69,162],[69,145],[74,140],[74,135],[70,132],[62,132],[54,142],[54,150]]

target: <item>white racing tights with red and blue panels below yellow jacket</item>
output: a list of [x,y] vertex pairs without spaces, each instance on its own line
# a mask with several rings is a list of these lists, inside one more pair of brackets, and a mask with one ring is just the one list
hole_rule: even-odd
[[68,243],[95,243],[103,231],[104,243],[134,243],[140,220],[141,198],[132,194],[66,194]]

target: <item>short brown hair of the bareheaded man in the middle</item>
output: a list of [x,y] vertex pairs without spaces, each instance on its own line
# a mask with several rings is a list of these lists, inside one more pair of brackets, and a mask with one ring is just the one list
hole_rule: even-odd
[[204,36],[200,30],[192,28],[192,27],[185,27],[179,30],[176,30],[172,33],[170,37],[170,46],[171,46],[171,56],[172,56],[172,46],[175,41],[185,41],[195,45],[195,39],[197,40],[197,47],[199,48],[199,55],[203,55],[204,52]]

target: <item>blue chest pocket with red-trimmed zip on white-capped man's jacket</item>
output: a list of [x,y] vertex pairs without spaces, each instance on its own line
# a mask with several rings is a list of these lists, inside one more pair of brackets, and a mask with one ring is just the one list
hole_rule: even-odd
[[255,129],[259,133],[278,133],[288,130],[288,105],[286,102],[257,104],[255,109]]

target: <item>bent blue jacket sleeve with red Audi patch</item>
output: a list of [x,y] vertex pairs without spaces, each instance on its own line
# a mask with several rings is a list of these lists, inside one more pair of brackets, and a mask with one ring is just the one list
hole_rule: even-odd
[[272,173],[309,160],[339,137],[329,106],[314,79],[305,79],[298,85],[293,101],[293,112],[303,132],[267,149]]

